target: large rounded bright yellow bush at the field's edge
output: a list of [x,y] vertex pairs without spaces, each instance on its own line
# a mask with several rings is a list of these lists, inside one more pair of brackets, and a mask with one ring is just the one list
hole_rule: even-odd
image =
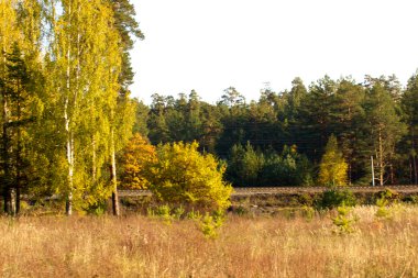
[[222,180],[224,167],[196,142],[160,145],[157,162],[147,169],[153,193],[165,202],[204,209],[226,209],[232,187]]

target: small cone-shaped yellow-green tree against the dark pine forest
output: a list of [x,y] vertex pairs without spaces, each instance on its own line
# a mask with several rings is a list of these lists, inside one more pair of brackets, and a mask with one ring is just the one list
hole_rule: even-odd
[[331,135],[326,146],[326,153],[319,165],[318,182],[324,186],[345,186],[348,164],[337,143],[337,137]]

